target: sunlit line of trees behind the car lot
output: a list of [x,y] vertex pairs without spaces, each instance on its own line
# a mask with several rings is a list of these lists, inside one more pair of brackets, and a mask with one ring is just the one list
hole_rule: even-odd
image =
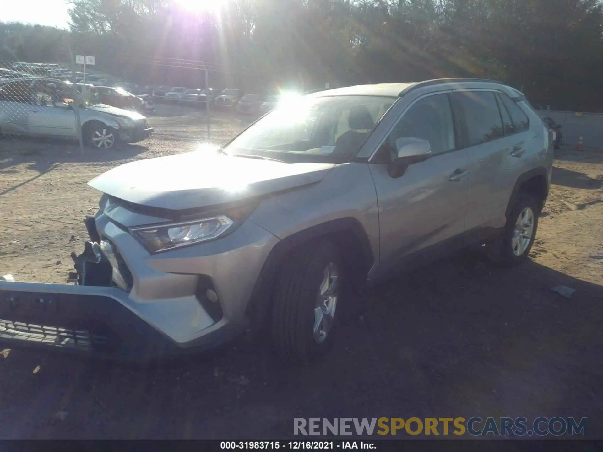
[[[197,0],[203,4],[218,0]],[[603,112],[599,0],[72,0],[70,30],[0,25],[0,59],[95,55],[138,83],[309,90],[484,77],[532,104]]]

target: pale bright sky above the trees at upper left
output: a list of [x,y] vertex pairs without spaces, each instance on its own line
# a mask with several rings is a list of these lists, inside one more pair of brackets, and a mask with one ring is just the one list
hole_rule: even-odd
[[0,0],[0,21],[68,28],[66,0]]

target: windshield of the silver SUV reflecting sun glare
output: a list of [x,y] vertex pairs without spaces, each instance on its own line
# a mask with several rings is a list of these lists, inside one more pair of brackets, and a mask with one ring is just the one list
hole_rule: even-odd
[[300,97],[257,121],[225,151],[288,163],[349,162],[394,101],[380,96]]

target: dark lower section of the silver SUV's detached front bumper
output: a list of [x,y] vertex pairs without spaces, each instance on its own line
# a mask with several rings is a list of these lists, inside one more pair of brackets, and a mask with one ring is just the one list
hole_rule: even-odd
[[195,353],[233,336],[225,327],[177,344],[120,303],[124,295],[115,287],[0,281],[0,344],[144,362]]

